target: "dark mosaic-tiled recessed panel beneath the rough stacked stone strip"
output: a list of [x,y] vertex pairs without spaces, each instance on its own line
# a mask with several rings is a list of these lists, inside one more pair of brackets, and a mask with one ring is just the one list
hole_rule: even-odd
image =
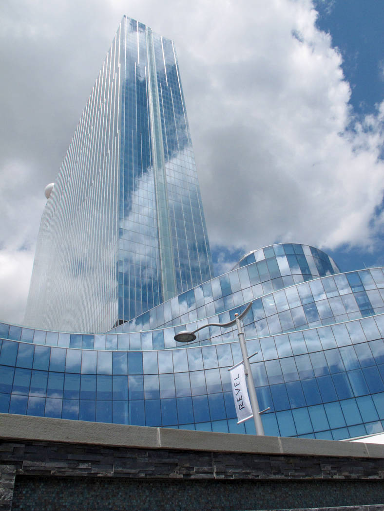
[[370,480],[138,480],[16,476],[12,511],[239,511],[384,502]]

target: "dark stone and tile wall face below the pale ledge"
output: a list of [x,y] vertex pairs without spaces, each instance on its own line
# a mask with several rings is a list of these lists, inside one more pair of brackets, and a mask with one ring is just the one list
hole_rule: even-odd
[[384,502],[384,463],[373,457],[3,440],[0,474],[1,511],[242,511]]

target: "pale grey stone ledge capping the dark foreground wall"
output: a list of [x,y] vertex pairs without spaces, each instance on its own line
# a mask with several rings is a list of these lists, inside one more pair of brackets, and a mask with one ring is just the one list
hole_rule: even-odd
[[384,445],[209,433],[0,413],[0,438],[141,449],[384,458]]

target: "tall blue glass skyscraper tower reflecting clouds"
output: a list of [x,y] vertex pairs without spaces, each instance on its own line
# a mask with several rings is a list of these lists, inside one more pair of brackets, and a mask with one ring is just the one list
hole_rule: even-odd
[[174,43],[124,16],[42,216],[25,321],[105,332],[212,276]]

